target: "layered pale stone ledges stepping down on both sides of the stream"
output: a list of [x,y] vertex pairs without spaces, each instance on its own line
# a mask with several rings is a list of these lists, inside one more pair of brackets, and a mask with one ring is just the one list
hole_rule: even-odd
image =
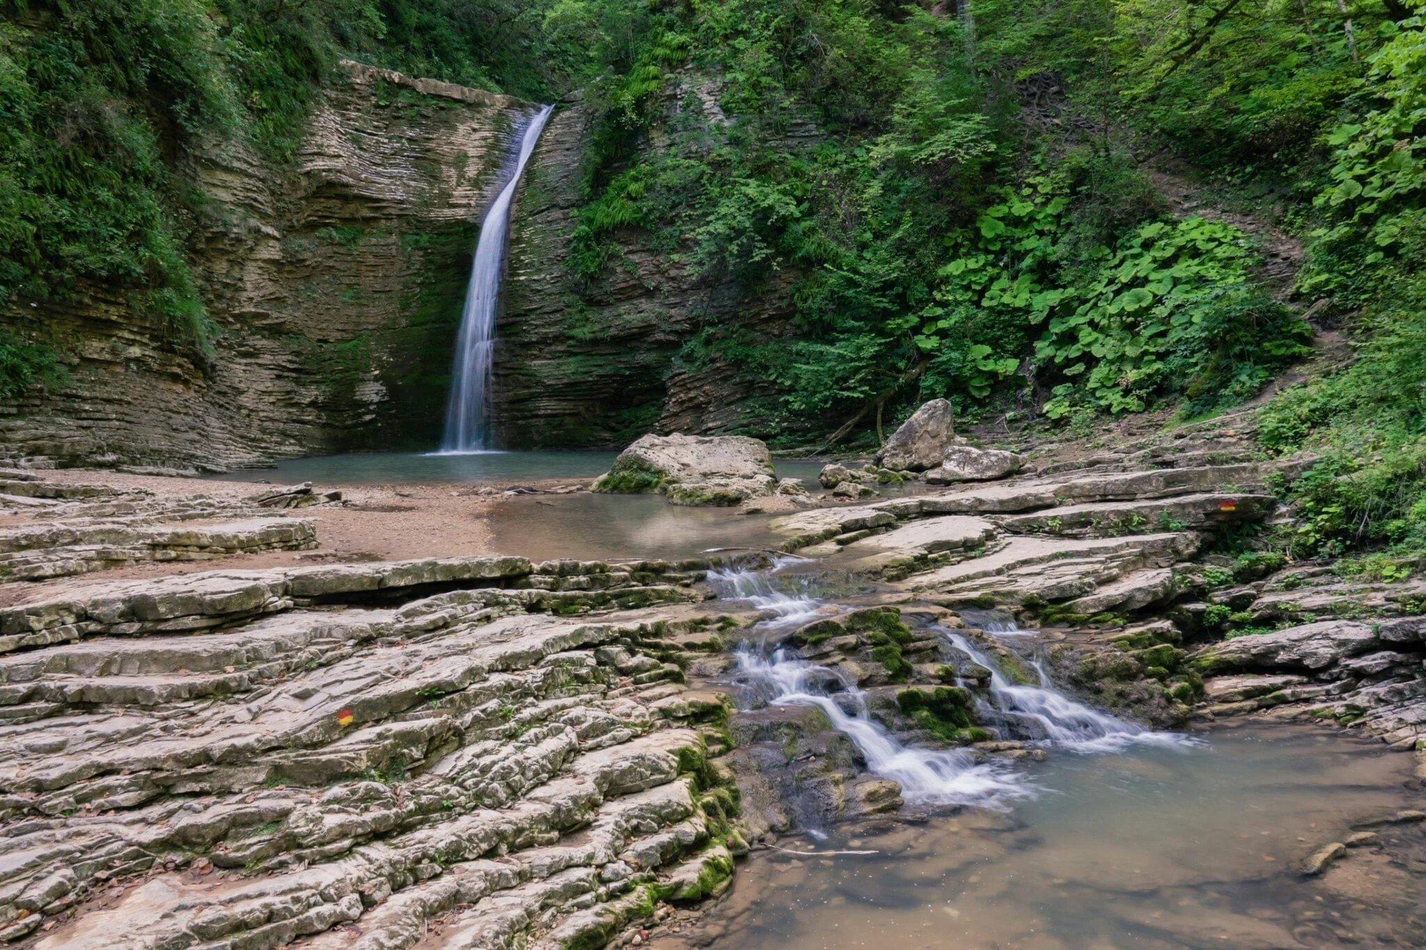
[[[814,497],[771,527],[797,570],[843,585],[838,605],[773,635],[856,684],[900,742],[978,761],[1044,751],[983,718],[992,671],[935,631],[1008,681],[1042,664],[1148,725],[1256,712],[1417,742],[1422,585],[1224,563],[1215,536],[1281,517],[1266,486],[1301,463],[1137,467],[1138,451]],[[161,564],[185,537],[262,526],[309,544],[264,499],[341,500],[14,481],[44,507],[14,506],[30,514],[0,563],[53,567],[11,575],[0,605],[6,940],[602,946],[722,893],[750,843],[901,805],[821,712],[736,711],[732,647],[771,614],[710,600],[709,575],[779,553],[117,578],[103,571],[140,557],[94,554],[60,588],[39,578],[81,548]],[[981,632],[1017,621],[1024,638]]]

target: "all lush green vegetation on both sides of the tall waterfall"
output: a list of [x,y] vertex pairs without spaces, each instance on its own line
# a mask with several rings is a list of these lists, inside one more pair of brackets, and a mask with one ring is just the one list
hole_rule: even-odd
[[[1356,360],[1263,413],[1271,451],[1322,456],[1286,547],[1417,550],[1423,37],[1416,0],[0,0],[0,306],[101,282],[201,356],[175,169],[204,137],[284,161],[344,56],[579,88],[572,291],[636,241],[786,298],[794,336],[709,319],[682,355],[776,383],[759,434],[938,395],[1208,414],[1305,352],[1320,301]],[[1238,216],[1175,214],[1164,174]],[[1253,216],[1306,245],[1295,288],[1261,282]],[[46,343],[0,338],[0,392],[57,379]]]

